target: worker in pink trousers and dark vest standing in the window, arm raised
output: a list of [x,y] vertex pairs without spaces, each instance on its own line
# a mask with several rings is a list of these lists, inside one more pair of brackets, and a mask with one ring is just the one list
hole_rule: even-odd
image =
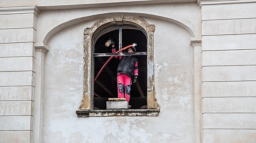
[[[107,44],[108,42],[108,44]],[[112,45],[112,53],[116,53],[115,42],[110,39],[106,46]],[[128,53],[136,52],[135,47],[128,48]],[[117,67],[117,93],[118,98],[125,98],[130,101],[130,86],[137,81],[139,75],[138,60],[133,56],[114,56],[120,60]],[[132,81],[133,78],[133,81]],[[129,105],[130,107],[130,105]]]

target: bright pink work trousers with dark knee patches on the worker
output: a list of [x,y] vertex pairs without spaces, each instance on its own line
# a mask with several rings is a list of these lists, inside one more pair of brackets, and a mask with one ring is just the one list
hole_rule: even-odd
[[126,101],[130,101],[130,90],[132,80],[128,74],[117,73],[117,93],[118,98],[125,98]]

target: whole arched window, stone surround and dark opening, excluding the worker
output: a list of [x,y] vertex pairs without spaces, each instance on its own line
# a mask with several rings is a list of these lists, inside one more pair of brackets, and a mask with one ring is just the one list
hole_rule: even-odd
[[[141,17],[124,15],[106,17],[85,28],[84,86],[82,101],[76,111],[78,117],[158,116],[160,106],[155,98],[154,86],[154,31],[155,26]],[[112,53],[111,47],[105,46],[108,38],[115,40],[116,50],[136,43],[137,51]],[[139,60],[138,82],[131,85],[132,109],[106,110],[108,98],[117,97],[115,80],[119,61],[111,59],[96,82],[95,76],[109,57],[129,55]]]

